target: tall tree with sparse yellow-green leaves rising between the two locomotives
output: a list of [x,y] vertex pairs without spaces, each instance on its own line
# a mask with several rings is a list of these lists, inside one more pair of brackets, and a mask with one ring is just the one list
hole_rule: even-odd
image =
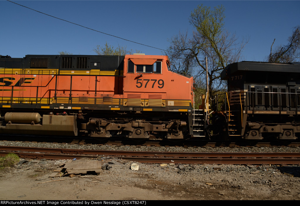
[[[205,57],[208,58],[208,88],[211,98],[226,89],[226,82],[220,80],[220,73],[227,64],[239,61],[248,38],[238,42],[235,34],[224,28],[224,7],[199,5],[190,15],[189,22],[194,27],[188,32],[172,37],[166,54],[170,57],[171,70],[193,76],[196,89],[203,89],[205,82]],[[203,81],[204,79],[204,81]]]

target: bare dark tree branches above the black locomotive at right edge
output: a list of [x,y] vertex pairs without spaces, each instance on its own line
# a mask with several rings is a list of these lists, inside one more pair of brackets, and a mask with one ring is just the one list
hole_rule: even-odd
[[268,56],[268,62],[281,62],[288,63],[300,60],[300,25],[293,28],[292,36],[288,39],[286,45],[276,46],[274,52],[272,53],[272,46],[275,39],[271,45],[271,52]]

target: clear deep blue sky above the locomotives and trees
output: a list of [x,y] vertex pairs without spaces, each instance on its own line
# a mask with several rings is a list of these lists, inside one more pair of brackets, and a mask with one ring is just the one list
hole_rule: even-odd
[[[262,61],[274,46],[286,44],[292,28],[300,24],[300,1],[14,1],[18,4],[149,46],[166,49],[179,31],[193,30],[188,22],[199,4],[225,7],[225,27],[239,40],[250,37],[243,55]],[[0,54],[55,55],[59,51],[95,55],[93,48],[112,46],[161,55],[159,49],[111,37],[0,0]]]

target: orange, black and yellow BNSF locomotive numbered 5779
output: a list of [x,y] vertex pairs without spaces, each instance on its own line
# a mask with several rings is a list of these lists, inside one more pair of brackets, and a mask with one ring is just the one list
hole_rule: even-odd
[[169,71],[167,56],[0,57],[2,134],[193,135],[193,77]]

